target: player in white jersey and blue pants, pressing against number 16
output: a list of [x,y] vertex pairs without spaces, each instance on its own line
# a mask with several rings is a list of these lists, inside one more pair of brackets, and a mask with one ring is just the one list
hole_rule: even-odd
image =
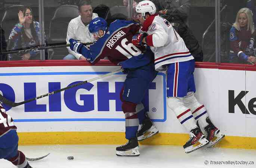
[[190,132],[189,140],[183,145],[185,152],[190,153],[207,144],[214,146],[225,135],[212,124],[206,108],[194,96],[194,57],[172,25],[156,13],[154,3],[141,1],[136,12],[142,15],[139,21],[143,25],[143,34],[135,35],[132,42],[137,46],[151,46],[155,69],[166,71],[167,104]]

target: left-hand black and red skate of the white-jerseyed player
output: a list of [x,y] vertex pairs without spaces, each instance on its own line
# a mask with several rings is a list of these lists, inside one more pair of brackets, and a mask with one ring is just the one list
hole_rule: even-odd
[[183,145],[183,148],[185,149],[185,153],[193,152],[209,144],[209,141],[205,138],[204,134],[200,130],[198,121],[197,121],[197,128],[194,128],[193,130],[191,130],[189,133],[189,136],[190,136],[189,140],[186,142],[185,145]]

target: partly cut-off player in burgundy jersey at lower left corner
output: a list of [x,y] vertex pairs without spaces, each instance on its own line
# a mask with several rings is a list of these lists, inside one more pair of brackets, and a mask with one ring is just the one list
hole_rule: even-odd
[[18,168],[32,168],[25,155],[18,150],[19,137],[13,119],[0,105],[0,159],[12,162]]

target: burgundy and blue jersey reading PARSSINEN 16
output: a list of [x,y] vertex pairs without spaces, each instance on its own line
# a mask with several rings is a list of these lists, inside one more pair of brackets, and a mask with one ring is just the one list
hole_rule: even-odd
[[[140,25],[135,22],[116,20],[110,24],[106,34],[90,46],[90,50],[83,46],[81,54],[89,58],[92,63],[108,57],[112,63],[125,65],[123,68],[144,66],[152,57],[149,54],[144,56],[143,48],[132,44],[132,37],[139,29]],[[128,59],[129,61],[126,61]]]

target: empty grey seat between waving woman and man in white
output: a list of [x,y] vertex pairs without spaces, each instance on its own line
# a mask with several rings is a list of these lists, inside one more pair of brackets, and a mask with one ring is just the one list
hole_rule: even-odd
[[[65,4],[58,6],[50,21],[48,44],[66,42],[68,24],[79,15],[78,6]],[[66,48],[56,48],[49,59],[63,59],[68,55]]]

